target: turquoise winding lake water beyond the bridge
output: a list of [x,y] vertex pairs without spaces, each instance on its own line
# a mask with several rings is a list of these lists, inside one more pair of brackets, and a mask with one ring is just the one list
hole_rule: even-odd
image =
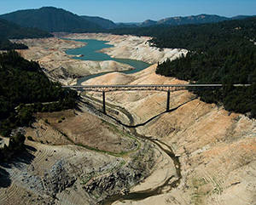
[[[119,71],[119,72],[122,72],[125,74],[131,74],[131,73],[135,73],[138,71],[143,71],[143,69],[145,69],[151,65],[151,64],[145,63],[140,60],[115,59],[115,58],[111,58],[111,56],[109,56],[108,54],[102,54],[102,53],[96,52],[98,50],[101,50],[102,48],[113,47],[113,45],[106,44],[106,43],[108,43],[107,41],[98,41],[98,40],[94,40],[94,39],[79,39],[78,40],[78,39],[67,39],[67,38],[65,38],[65,40],[73,40],[73,41],[77,41],[77,42],[88,43],[86,46],[84,46],[82,48],[68,49],[65,51],[66,54],[73,54],[73,55],[83,54],[84,55],[81,57],[73,57],[73,59],[77,59],[77,60],[114,60],[119,63],[128,64],[128,65],[135,67],[135,70]],[[113,71],[110,71],[110,72],[113,72]],[[102,73],[97,73],[97,74],[93,74],[93,75],[89,75],[89,76],[85,76],[85,77],[80,77],[77,81],[77,85],[81,85],[81,83],[89,80],[90,78],[100,77],[106,73],[108,73],[108,72],[102,72]]]

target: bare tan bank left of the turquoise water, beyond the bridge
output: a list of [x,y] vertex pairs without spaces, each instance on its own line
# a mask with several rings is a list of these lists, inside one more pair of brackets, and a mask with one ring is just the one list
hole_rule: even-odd
[[86,43],[62,40],[56,37],[41,39],[24,39],[16,41],[26,44],[29,49],[20,50],[27,60],[36,60],[46,75],[63,84],[74,83],[78,77],[107,71],[126,71],[134,69],[113,60],[92,61],[74,60],[72,55],[64,51],[70,48],[80,48]]

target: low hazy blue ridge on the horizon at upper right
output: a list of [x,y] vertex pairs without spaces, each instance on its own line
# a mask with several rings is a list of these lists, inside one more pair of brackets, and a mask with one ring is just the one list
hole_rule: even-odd
[[199,15],[190,15],[190,16],[177,16],[177,17],[170,17],[162,20],[145,20],[139,26],[156,26],[156,25],[184,25],[184,24],[205,24],[205,23],[217,23],[219,21],[224,20],[241,20],[247,18],[247,15],[238,15],[232,18],[219,16],[215,14],[199,14]]

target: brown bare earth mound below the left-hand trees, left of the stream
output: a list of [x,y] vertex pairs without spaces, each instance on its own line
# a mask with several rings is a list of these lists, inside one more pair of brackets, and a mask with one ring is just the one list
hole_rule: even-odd
[[[132,151],[137,141],[119,133],[108,122],[81,110],[38,113],[26,136],[50,145],[84,145],[113,153]],[[44,122],[47,119],[48,123]],[[68,138],[67,138],[68,136]]]

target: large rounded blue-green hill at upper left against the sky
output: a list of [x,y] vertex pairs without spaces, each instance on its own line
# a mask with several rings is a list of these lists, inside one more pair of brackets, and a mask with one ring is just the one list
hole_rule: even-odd
[[3,14],[0,18],[15,22],[20,26],[38,28],[49,32],[101,31],[103,28],[77,14],[64,9],[43,7],[41,9],[19,10]]

